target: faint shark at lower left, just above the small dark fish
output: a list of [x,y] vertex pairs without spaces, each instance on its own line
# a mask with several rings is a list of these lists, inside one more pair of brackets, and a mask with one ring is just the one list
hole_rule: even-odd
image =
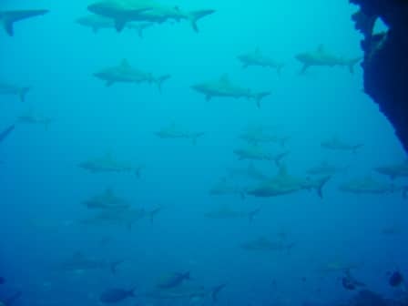
[[83,273],[87,270],[108,269],[112,272],[112,274],[116,274],[117,266],[122,262],[123,260],[112,262],[106,260],[96,260],[93,258],[87,258],[82,252],[76,252],[73,254],[73,256],[71,256],[71,258],[61,262],[58,265],[58,269],[74,273]]

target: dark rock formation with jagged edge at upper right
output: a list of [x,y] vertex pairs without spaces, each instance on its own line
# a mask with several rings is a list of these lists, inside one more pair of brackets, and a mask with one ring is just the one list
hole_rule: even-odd
[[[364,90],[393,124],[408,152],[408,0],[350,0],[360,5],[352,16],[362,32]],[[375,20],[388,26],[373,35]]]

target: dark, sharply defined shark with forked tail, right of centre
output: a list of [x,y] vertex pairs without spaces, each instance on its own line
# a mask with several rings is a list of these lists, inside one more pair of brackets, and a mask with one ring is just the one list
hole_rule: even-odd
[[279,172],[274,178],[267,179],[260,182],[258,186],[247,189],[247,194],[254,197],[269,198],[305,189],[315,189],[319,197],[323,198],[323,187],[330,179],[331,176],[325,176],[320,179],[293,177],[288,173],[286,166],[280,165]]

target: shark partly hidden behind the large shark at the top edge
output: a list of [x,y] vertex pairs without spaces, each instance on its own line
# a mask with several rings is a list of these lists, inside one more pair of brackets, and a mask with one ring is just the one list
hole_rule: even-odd
[[[76,23],[81,26],[86,26],[92,29],[97,34],[101,29],[115,29],[115,23],[112,19],[95,14],[89,14],[76,19]],[[154,26],[153,23],[148,22],[131,22],[126,28],[135,30],[140,38],[143,38],[145,29]]]

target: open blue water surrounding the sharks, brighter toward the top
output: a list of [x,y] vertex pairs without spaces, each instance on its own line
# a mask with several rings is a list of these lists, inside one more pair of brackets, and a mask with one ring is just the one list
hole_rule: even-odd
[[[353,292],[342,288],[342,272],[319,271],[331,263],[357,263],[355,277],[393,297],[386,272],[408,265],[406,201],[398,193],[345,194],[338,186],[373,173],[373,167],[403,160],[403,148],[363,93],[360,66],[354,74],[342,67],[311,67],[300,76],[301,64],[294,58],[321,44],[341,56],[362,56],[362,37],[350,19],[356,7],[323,0],[179,0],[177,5],[217,12],[199,21],[199,34],[180,22],[154,26],[140,39],[133,31],[95,35],[76,25],[74,20],[87,14],[83,1],[2,1],[1,9],[47,8],[50,13],[17,23],[14,37],[0,32],[0,79],[32,88],[24,103],[0,96],[0,129],[29,109],[54,122],[48,129],[18,124],[0,145],[0,276],[6,279],[0,300],[22,291],[16,301],[21,305],[97,305],[109,288],[138,286],[142,294],[164,273],[189,270],[193,284],[227,284],[219,305],[348,301]],[[281,76],[268,68],[242,69],[237,56],[256,47],[285,63]],[[123,58],[156,75],[170,74],[163,93],[146,84],[105,87],[92,76]],[[271,95],[258,108],[246,99],[207,102],[190,88],[224,74]],[[205,136],[193,146],[189,140],[154,135],[172,123]],[[285,164],[294,175],[304,176],[321,160],[349,168],[331,179],[324,199],[312,191],[245,200],[209,195],[226,168],[248,165],[233,150],[244,145],[238,136],[250,124],[277,125],[291,137]],[[322,149],[321,140],[333,135],[364,146],[356,154]],[[106,154],[146,165],[141,178],[92,174],[77,166]],[[277,172],[268,162],[256,165],[270,175]],[[92,212],[81,202],[107,187],[135,208],[164,209],[153,224],[142,219],[131,231],[84,226],[80,220]],[[261,212],[251,223],[204,217],[224,206]],[[401,232],[383,235],[390,226]],[[296,242],[291,252],[240,249],[245,241],[273,240],[281,232]],[[125,261],[117,275],[57,268],[78,251],[98,260]],[[193,303],[138,297],[121,304]]]

